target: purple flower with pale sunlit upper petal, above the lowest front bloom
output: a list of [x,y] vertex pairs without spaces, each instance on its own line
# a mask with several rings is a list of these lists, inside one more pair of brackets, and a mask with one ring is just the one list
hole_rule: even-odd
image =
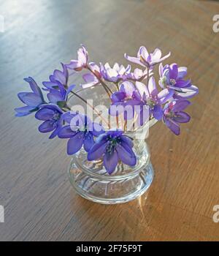
[[[120,113],[124,113],[125,120],[134,118],[135,106],[144,105],[139,91],[137,91],[134,84],[130,81],[121,83],[120,90],[112,94],[111,100],[110,115],[118,116]],[[114,108],[113,106],[122,106],[123,108]]]

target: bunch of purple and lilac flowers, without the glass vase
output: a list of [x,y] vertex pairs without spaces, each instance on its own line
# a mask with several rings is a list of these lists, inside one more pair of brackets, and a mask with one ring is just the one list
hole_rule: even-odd
[[[137,57],[125,54],[128,61],[138,64],[141,69],[131,69],[115,63],[95,64],[88,61],[88,52],[84,46],[77,51],[77,59],[69,64],[61,64],[62,69],[55,69],[48,81],[42,82],[42,89],[31,77],[24,78],[31,87],[31,92],[20,92],[18,98],[25,106],[15,108],[15,116],[28,116],[35,113],[35,118],[42,121],[39,132],[50,132],[50,139],[66,138],[67,154],[76,154],[83,147],[87,152],[88,161],[102,159],[107,173],[111,174],[123,162],[131,167],[137,159],[133,151],[133,139],[126,131],[128,123],[131,127],[141,127],[151,118],[155,118],[168,127],[175,135],[180,135],[180,123],[190,121],[185,108],[191,104],[188,99],[195,96],[199,90],[191,80],[186,79],[187,68],[177,64],[162,64],[170,56],[161,55],[156,48],[148,53],[142,46]],[[158,65],[159,64],[159,65]],[[158,86],[153,72],[158,66]],[[71,110],[69,98],[71,95],[88,103],[76,91],[76,85],[69,84],[69,77],[74,73],[83,72],[85,81],[80,86],[87,90],[93,86],[102,86],[109,97],[110,108],[107,118],[93,108],[101,124],[93,122],[84,113]],[[159,90],[158,90],[159,88]],[[46,98],[42,91],[46,93]],[[114,117],[113,126],[108,117]],[[105,127],[104,127],[105,126]],[[129,125],[130,127],[130,125]]]

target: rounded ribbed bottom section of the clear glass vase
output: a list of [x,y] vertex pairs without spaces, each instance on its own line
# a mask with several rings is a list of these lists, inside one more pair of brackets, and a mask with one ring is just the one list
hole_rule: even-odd
[[69,180],[76,192],[87,200],[101,204],[126,203],[144,194],[153,181],[153,166],[148,161],[134,175],[115,179],[96,178],[84,173],[72,162],[69,167]]

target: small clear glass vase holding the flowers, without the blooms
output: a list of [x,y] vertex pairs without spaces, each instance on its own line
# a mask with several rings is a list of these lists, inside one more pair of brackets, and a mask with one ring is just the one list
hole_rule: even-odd
[[[88,94],[92,94],[94,107],[97,104],[110,107],[109,98],[106,97],[101,87],[96,86],[89,92],[84,90],[81,96],[87,99]],[[81,102],[72,97],[72,105],[76,104],[81,104]],[[74,154],[68,173],[76,192],[88,200],[103,204],[126,203],[145,193],[153,181],[153,166],[150,162],[150,151],[145,137],[136,138],[139,138],[137,135],[143,134],[145,127],[149,129],[155,123],[156,120],[153,118],[143,127],[127,132],[127,135],[134,139],[133,150],[137,156],[137,164],[134,167],[119,162],[115,171],[108,174],[102,159],[88,161],[88,153],[83,148]]]

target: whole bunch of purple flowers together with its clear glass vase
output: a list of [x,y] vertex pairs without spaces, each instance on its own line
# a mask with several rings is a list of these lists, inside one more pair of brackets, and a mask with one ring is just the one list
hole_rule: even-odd
[[[132,69],[130,64],[95,64],[88,60],[82,45],[77,59],[61,64],[61,70],[55,69],[49,80],[42,82],[42,89],[33,78],[24,78],[31,91],[18,93],[25,106],[15,108],[15,116],[34,114],[42,121],[39,132],[50,133],[50,139],[68,140],[67,154],[74,155],[70,180],[80,195],[98,203],[132,200],[142,195],[153,179],[145,135],[141,139],[133,135],[142,135],[145,125],[148,128],[155,121],[162,121],[174,135],[180,135],[180,124],[191,118],[185,112],[191,104],[188,99],[199,92],[185,78],[186,67],[163,64],[169,56],[170,53],[162,56],[158,48],[148,53],[142,46],[136,57],[125,54],[128,61],[139,65]],[[155,66],[159,74],[157,83],[153,76]],[[69,78],[80,72],[84,83],[76,90]],[[107,102],[107,113],[81,96],[81,91],[90,95],[93,89]],[[85,112],[74,111],[69,104],[72,99],[93,110],[98,121]]]

